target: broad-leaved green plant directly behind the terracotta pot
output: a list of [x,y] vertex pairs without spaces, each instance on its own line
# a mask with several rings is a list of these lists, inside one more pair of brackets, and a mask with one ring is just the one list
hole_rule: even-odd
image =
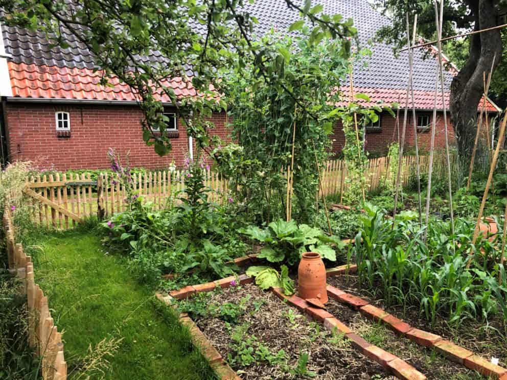
[[336,251],[328,243],[335,244],[337,249],[343,243],[336,236],[327,236],[319,228],[306,224],[299,226],[294,222],[278,221],[269,223],[264,230],[257,226],[249,226],[240,230],[249,238],[266,243],[258,257],[266,258],[270,263],[284,260],[289,265],[299,261],[305,252],[318,252],[323,258],[336,261]]

